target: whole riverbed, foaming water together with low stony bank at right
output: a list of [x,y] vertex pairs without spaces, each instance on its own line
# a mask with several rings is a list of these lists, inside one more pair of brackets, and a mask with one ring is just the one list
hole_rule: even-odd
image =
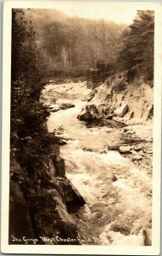
[[49,107],[73,105],[51,112],[47,128],[64,138],[66,175],[86,201],[77,212],[71,205],[81,244],[150,245],[152,125],[77,119],[91,92],[83,82],[49,84],[42,93]]

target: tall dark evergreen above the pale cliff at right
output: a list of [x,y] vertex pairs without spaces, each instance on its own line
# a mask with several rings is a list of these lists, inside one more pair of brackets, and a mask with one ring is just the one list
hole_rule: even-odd
[[125,32],[120,61],[135,76],[143,73],[154,78],[154,11],[137,11],[137,17]]

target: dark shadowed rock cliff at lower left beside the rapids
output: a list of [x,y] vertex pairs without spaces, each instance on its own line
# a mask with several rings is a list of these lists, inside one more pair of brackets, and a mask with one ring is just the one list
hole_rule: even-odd
[[59,153],[30,160],[32,170],[11,153],[9,244],[79,244],[70,212],[85,201],[67,179],[64,160]]

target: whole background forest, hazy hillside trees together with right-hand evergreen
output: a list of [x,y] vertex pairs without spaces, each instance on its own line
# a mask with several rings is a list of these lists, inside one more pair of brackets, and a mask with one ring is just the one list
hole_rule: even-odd
[[57,10],[25,10],[36,32],[49,75],[81,77],[85,69],[106,65],[153,79],[154,12],[137,11],[131,26],[108,20],[69,18]]

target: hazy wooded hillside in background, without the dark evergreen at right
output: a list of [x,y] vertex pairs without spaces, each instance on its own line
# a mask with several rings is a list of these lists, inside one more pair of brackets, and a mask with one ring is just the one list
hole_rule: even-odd
[[36,40],[48,61],[51,76],[84,75],[98,60],[115,67],[121,32],[125,28],[108,20],[87,20],[48,14],[47,10],[29,10]]

